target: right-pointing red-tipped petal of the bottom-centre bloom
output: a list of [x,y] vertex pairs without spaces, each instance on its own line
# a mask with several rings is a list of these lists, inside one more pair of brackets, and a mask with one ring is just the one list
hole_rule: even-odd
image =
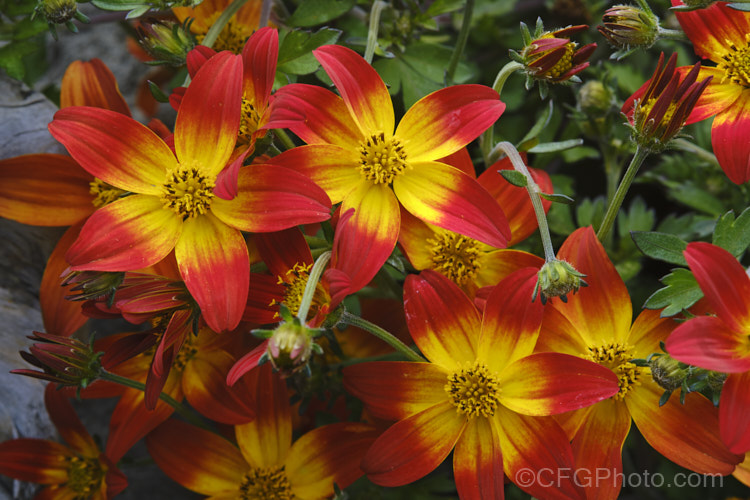
[[500,403],[524,415],[577,410],[618,391],[617,376],[609,368],[557,352],[526,356],[500,372]]

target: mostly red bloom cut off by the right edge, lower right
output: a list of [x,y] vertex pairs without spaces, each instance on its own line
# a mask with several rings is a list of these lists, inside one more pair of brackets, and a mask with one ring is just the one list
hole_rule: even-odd
[[750,278],[732,254],[710,243],[683,252],[716,316],[677,327],[666,343],[684,363],[728,373],[719,400],[721,439],[735,453],[750,451]]

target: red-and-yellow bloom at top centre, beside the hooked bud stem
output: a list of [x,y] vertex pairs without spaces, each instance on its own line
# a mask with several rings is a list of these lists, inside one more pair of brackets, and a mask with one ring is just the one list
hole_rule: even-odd
[[[372,66],[339,45],[313,53],[341,97],[312,85],[282,87],[267,127],[288,127],[307,145],[269,162],[308,175],[333,203],[342,202],[342,214],[354,210],[360,252],[347,252],[355,263],[342,267],[382,266],[398,238],[399,205],[430,224],[505,247],[510,229],[497,202],[476,180],[436,161],[500,117],[505,105],[497,92],[481,85],[438,90],[414,104],[394,131],[391,97]],[[363,260],[365,253],[378,258]]]

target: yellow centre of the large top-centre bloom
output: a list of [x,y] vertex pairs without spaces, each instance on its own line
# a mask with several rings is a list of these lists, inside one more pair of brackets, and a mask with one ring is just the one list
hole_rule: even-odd
[[391,184],[407,167],[401,141],[395,137],[386,138],[383,132],[365,139],[359,147],[359,157],[360,172],[374,184]]

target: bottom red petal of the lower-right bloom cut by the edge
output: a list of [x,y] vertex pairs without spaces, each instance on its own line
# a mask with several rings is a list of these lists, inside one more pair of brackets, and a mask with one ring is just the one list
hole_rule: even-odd
[[732,373],[719,401],[721,440],[732,453],[750,451],[750,372]]

